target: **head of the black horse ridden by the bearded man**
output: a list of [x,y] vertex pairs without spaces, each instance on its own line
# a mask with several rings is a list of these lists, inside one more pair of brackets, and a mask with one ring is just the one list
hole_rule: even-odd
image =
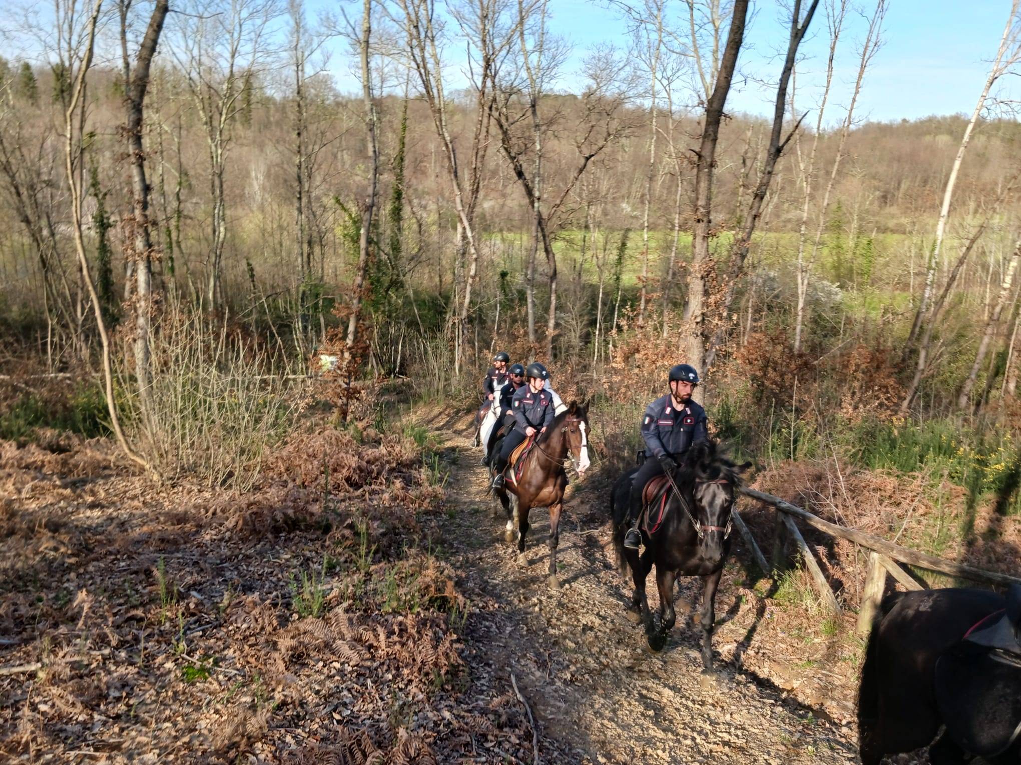
[[729,460],[715,441],[691,447],[684,460],[685,477],[692,487],[696,530],[709,552],[722,548],[733,526],[734,494],[741,484],[741,473],[750,462],[737,465]]

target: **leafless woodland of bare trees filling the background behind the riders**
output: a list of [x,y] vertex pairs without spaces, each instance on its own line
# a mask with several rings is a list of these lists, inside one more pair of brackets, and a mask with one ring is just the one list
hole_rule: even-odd
[[[823,440],[865,416],[1009,427],[1016,15],[973,113],[879,123],[856,104],[884,0],[795,4],[786,58],[753,72],[743,2],[615,8],[623,43],[587,52],[577,92],[550,85],[574,59],[548,0],[27,15],[38,56],[0,68],[13,356],[108,369],[146,443],[181,344],[215,327],[268,376],[326,353],[430,395],[465,395],[497,347],[596,397],[686,359],[748,447],[769,407]],[[772,115],[728,109],[736,76],[770,84]]]

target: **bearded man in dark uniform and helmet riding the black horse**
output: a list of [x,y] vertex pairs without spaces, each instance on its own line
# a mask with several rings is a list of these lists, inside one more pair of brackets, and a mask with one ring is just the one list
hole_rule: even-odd
[[645,484],[666,470],[676,470],[692,444],[709,440],[706,410],[691,400],[691,393],[697,385],[698,372],[695,368],[689,364],[678,364],[670,370],[670,393],[645,408],[641,419],[645,461],[631,481],[630,528],[624,537],[624,547],[637,550],[641,545],[638,516],[641,514],[641,496]]

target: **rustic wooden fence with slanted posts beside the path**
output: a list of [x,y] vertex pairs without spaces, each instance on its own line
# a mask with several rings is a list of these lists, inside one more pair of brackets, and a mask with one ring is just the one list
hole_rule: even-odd
[[883,591],[886,586],[886,574],[892,576],[897,582],[909,590],[921,590],[923,588],[922,583],[917,581],[900,565],[901,563],[923,568],[927,571],[936,571],[950,576],[957,576],[969,581],[1001,585],[1021,584],[1021,578],[1017,576],[996,573],[995,571],[985,571],[981,568],[974,568],[961,563],[955,563],[954,561],[943,560],[934,555],[920,553],[917,550],[894,545],[892,542],[887,542],[881,537],[866,533],[857,528],[830,523],[817,515],[813,515],[808,510],[803,510],[796,505],[791,505],[789,502],[785,502],[779,497],[774,497],[765,492],[758,492],[755,489],[742,489],[741,493],[765,505],[776,508],[782,513],[782,515],[777,517],[777,539],[773,550],[772,565],[768,565],[759,545],[756,544],[755,538],[751,536],[751,530],[743,520],[737,517],[735,511],[734,525],[751,549],[751,554],[757,564],[764,571],[775,571],[779,567],[783,552],[782,534],[786,532],[789,539],[797,546],[805,560],[805,566],[809,570],[809,573],[812,574],[812,579],[823,603],[834,613],[839,611],[839,603],[836,600],[836,596],[833,595],[829,582],[826,581],[819,563],[816,561],[808,544],[806,544],[805,538],[801,537],[801,532],[794,523],[794,518],[799,518],[810,526],[818,528],[820,531],[824,531],[831,537],[848,540],[871,551],[869,555],[869,569],[865,578],[865,590],[862,593],[862,604],[858,615],[858,631],[861,633],[867,633],[872,626],[873,617],[879,608],[879,601],[882,599]]

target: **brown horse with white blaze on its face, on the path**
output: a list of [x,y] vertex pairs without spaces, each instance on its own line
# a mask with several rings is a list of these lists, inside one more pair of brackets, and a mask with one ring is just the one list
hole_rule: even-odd
[[[524,457],[521,478],[517,482],[510,474],[517,465],[507,467],[507,481],[496,496],[506,512],[506,541],[514,542],[514,526],[518,524],[518,554],[525,556],[525,536],[528,533],[528,512],[533,507],[549,508],[549,584],[560,586],[556,578],[556,545],[561,538],[561,509],[564,490],[568,486],[564,462],[571,456],[577,460],[575,467],[581,475],[588,469],[588,412],[584,404],[572,401],[568,408],[553,418]],[[495,447],[494,447],[495,449]]]

